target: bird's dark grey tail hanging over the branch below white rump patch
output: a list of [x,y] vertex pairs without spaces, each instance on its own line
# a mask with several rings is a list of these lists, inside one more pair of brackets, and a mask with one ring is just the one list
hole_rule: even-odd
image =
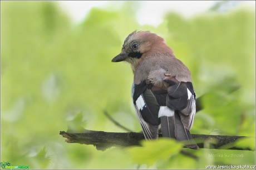
[[175,111],[173,116],[161,117],[161,132],[163,137],[176,138],[178,141],[184,141],[185,147],[197,150],[199,147],[196,145],[190,132],[184,127],[180,120],[179,112]]

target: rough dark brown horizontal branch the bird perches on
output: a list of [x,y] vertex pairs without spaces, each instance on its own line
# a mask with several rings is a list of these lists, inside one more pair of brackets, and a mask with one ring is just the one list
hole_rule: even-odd
[[[76,133],[71,131],[61,131],[60,135],[67,138],[67,143],[81,143],[86,145],[96,146],[97,150],[106,150],[110,147],[126,147],[126,146],[140,146],[140,141],[144,140],[143,133],[135,132],[104,132],[104,131],[91,131],[85,130],[83,133]],[[250,150],[249,148],[229,147],[224,146],[230,145],[237,141],[239,138],[244,136],[220,136],[220,135],[192,135],[199,148],[222,148],[229,150]],[[161,137],[161,135],[159,136]],[[210,145],[205,145],[209,143]]]

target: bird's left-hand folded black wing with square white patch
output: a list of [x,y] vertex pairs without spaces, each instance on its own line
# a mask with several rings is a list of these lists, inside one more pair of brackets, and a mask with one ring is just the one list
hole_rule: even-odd
[[158,112],[160,106],[145,82],[144,80],[138,85],[132,85],[132,99],[144,136],[147,139],[152,139],[158,137],[158,125],[160,124]]

